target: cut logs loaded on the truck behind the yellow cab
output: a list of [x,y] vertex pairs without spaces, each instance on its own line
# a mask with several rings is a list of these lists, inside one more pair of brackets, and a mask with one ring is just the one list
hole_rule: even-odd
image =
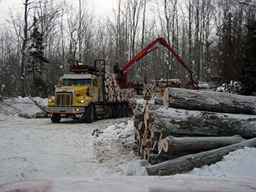
[[[106,70],[108,71],[108,70]],[[105,101],[129,101],[135,96],[133,88],[121,89],[116,82],[115,74],[110,72],[105,73]]]

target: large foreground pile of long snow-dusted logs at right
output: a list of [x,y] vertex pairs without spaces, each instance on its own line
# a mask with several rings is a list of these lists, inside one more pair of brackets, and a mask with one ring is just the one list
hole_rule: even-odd
[[137,104],[134,124],[138,155],[154,164],[148,174],[181,173],[256,147],[256,98],[167,88]]

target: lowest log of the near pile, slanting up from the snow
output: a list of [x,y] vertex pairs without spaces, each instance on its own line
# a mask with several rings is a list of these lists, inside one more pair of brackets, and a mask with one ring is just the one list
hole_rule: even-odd
[[244,147],[256,147],[256,138],[249,139],[237,144],[228,145],[215,150],[208,150],[202,153],[185,155],[180,158],[171,159],[160,164],[146,166],[148,175],[173,175],[188,172],[203,165],[215,164],[222,161],[222,157],[228,153],[243,149]]

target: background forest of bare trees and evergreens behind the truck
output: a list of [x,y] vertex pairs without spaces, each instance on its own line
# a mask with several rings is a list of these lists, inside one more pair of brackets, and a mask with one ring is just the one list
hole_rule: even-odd
[[[53,94],[69,60],[105,59],[113,72],[162,37],[194,72],[196,82],[220,77],[256,91],[256,3],[252,0],[116,0],[108,16],[90,0],[20,0],[0,26],[2,96]],[[1,1],[0,1],[1,6]],[[166,47],[135,64],[129,81],[181,79],[189,73]]]

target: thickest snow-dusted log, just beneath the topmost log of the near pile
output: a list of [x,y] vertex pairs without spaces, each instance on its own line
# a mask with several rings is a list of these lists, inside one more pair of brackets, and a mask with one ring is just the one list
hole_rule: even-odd
[[156,111],[155,131],[197,136],[256,137],[256,115],[236,115],[173,108]]

